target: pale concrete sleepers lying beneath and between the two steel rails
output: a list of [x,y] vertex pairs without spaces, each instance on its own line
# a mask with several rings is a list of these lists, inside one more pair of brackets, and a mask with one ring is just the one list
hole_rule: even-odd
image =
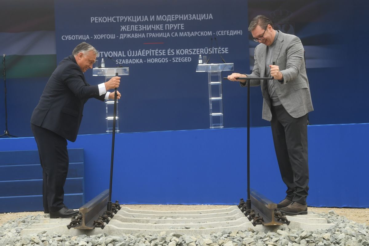
[[160,232],[179,233],[187,235],[210,234],[222,231],[264,231],[276,232],[278,229],[302,229],[313,231],[316,229],[332,228],[334,224],[328,224],[321,216],[308,212],[307,215],[286,216],[290,224],[280,226],[253,226],[237,206],[225,209],[209,209],[201,211],[152,211],[121,208],[110,219],[104,229],[92,230],[68,229],[70,218],[66,219],[41,219],[39,223],[31,225],[31,228],[23,229],[21,236],[46,231],[48,233],[61,233],[66,235],[96,235],[106,233],[108,235],[121,235],[132,233],[155,234]]

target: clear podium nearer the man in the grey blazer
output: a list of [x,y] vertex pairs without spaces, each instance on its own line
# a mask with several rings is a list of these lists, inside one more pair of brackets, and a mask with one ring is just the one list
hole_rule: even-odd
[[232,71],[233,63],[199,64],[196,72],[208,73],[210,128],[223,128],[222,72]]

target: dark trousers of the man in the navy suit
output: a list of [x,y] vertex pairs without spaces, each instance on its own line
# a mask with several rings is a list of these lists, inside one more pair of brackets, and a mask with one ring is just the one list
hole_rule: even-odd
[[44,209],[56,212],[65,205],[64,184],[68,174],[67,141],[48,129],[31,124],[42,167],[42,200]]

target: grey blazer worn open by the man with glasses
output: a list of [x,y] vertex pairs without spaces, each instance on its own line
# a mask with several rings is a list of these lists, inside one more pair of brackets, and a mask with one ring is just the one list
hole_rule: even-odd
[[[271,121],[270,97],[267,83],[273,83],[279,101],[286,111],[294,118],[299,118],[310,111],[313,111],[311,103],[309,82],[306,75],[304,62],[304,48],[300,39],[294,35],[279,32],[276,40],[273,61],[279,66],[283,74],[283,83],[273,80],[250,80],[250,86],[261,86],[263,94],[262,118]],[[255,48],[255,63],[251,75],[248,77],[264,77],[266,67],[266,45],[259,44]],[[241,83],[241,86],[246,84]]]

